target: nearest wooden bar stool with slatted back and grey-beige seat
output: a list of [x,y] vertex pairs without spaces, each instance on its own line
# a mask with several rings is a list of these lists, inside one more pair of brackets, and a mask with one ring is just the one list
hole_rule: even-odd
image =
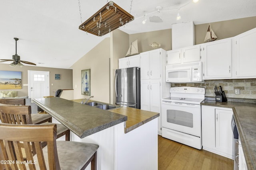
[[[56,125],[54,124],[10,125],[0,123],[0,131],[0,160],[13,160],[14,162],[4,164],[6,170],[84,170],[90,162],[91,170],[97,168],[96,153],[99,146],[92,143],[56,141]],[[47,142],[47,147],[42,148],[42,141]],[[30,143],[32,143],[32,149]],[[25,148],[25,159],[21,152],[21,144]],[[34,152],[36,152],[35,155],[33,155]],[[24,160],[28,163],[17,164]]]

